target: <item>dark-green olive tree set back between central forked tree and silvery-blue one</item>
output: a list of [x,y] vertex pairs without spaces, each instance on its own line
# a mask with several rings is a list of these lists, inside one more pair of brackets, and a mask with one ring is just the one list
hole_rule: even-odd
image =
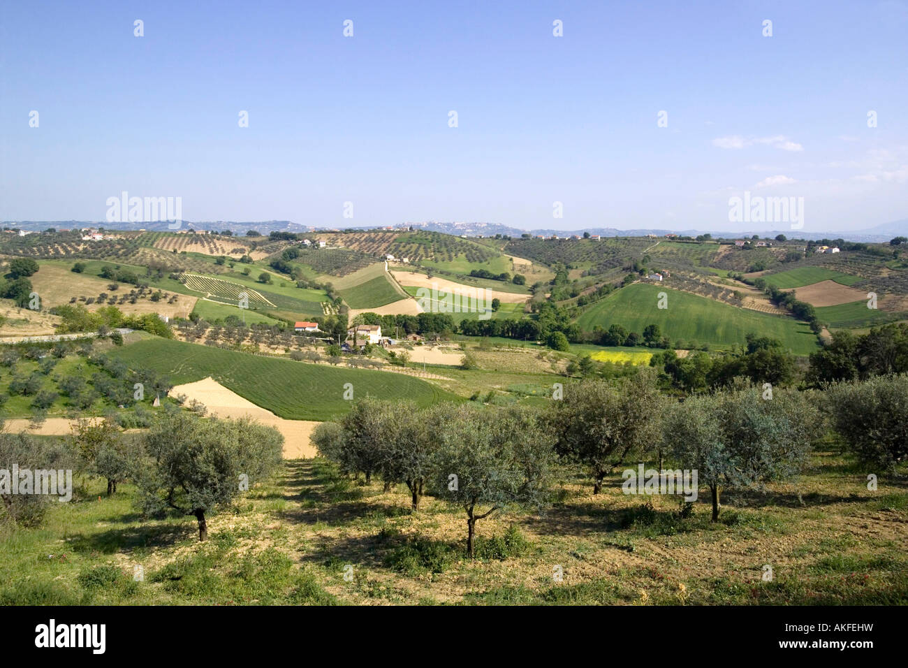
[[599,494],[612,468],[656,444],[663,406],[655,374],[641,369],[617,387],[599,380],[567,385],[548,421],[558,454],[587,466]]

